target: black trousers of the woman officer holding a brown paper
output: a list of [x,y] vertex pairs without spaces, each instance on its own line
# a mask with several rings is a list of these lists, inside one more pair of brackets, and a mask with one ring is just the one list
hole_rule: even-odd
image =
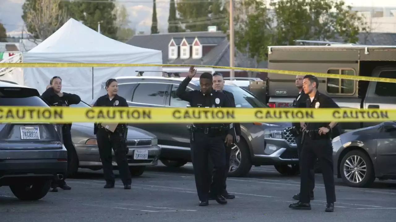
[[121,145],[120,134],[117,131],[112,133],[104,128],[99,128],[96,133],[96,140],[98,143],[106,183],[115,183],[112,165],[113,156],[111,152],[113,149],[121,180],[124,185],[130,185],[132,182],[131,172],[129,171],[128,160],[126,158],[126,150]]

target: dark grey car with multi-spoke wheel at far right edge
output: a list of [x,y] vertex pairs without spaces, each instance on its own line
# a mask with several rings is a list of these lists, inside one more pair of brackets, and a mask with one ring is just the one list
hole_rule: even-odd
[[353,130],[335,137],[334,173],[352,187],[370,186],[375,178],[396,179],[396,122]]

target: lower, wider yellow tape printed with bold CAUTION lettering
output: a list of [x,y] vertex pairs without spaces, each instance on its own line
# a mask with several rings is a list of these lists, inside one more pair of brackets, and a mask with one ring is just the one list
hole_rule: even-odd
[[0,122],[383,122],[396,109],[0,107]]

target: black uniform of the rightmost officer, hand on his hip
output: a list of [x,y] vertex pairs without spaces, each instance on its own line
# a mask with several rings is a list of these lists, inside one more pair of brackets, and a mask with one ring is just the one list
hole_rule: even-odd
[[[339,108],[329,96],[316,92],[314,99],[307,98],[308,108]],[[318,158],[322,169],[324,186],[326,190],[327,203],[335,202],[335,186],[333,175],[333,147],[331,145],[332,130],[325,134],[319,135],[319,128],[329,127],[329,122],[308,122],[305,132],[303,132],[303,149],[301,151],[301,203],[310,203],[309,192],[310,169],[314,167],[316,158]]]

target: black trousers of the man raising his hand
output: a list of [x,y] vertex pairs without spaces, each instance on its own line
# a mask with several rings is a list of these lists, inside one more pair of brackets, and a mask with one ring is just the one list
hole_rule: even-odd
[[194,141],[190,141],[192,166],[194,167],[195,185],[200,201],[209,199],[212,174],[209,170],[209,156],[214,165],[213,194],[223,191],[225,172],[225,147],[223,137],[209,137],[208,134],[195,132]]

